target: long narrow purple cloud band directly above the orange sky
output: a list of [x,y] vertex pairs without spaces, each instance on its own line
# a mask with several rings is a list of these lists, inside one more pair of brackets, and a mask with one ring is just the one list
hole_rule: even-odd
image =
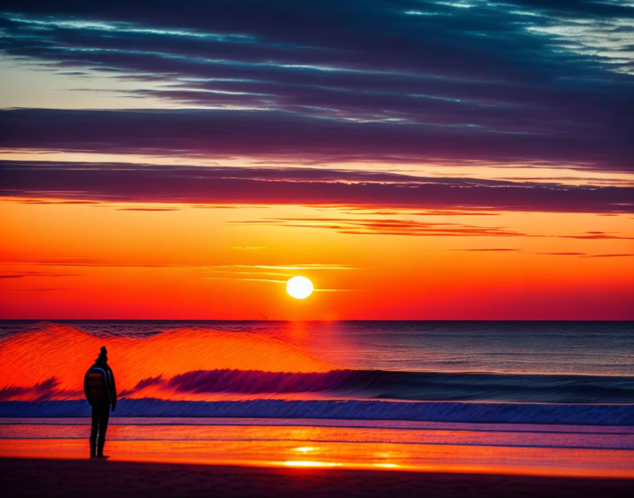
[[[0,195],[18,199],[208,203],[213,207],[223,203],[337,204],[376,212],[409,208],[421,215],[634,211],[632,187],[427,178],[359,170],[0,161],[0,175]],[[151,207],[155,208],[159,207]]]

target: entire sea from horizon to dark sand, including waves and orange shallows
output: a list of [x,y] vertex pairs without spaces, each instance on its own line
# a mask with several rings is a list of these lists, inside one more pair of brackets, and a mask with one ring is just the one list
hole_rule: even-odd
[[634,475],[632,322],[4,320],[1,456],[81,454],[102,345],[127,458]]

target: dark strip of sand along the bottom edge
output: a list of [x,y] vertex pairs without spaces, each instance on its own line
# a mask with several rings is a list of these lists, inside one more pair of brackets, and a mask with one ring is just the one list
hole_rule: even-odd
[[0,458],[3,497],[630,497],[634,480]]

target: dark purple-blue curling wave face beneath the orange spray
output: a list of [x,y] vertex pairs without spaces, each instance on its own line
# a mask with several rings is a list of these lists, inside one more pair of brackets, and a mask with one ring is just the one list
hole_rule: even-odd
[[[381,370],[271,372],[215,369],[151,376],[121,397],[166,400],[241,398],[345,398],[513,403],[634,403],[634,378],[501,373],[442,373]],[[0,400],[81,398],[52,377],[35,386],[7,386]]]

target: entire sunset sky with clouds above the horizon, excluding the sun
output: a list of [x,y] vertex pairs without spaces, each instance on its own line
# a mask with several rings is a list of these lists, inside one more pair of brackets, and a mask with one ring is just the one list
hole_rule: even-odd
[[633,103],[630,0],[4,1],[0,317],[634,319]]

